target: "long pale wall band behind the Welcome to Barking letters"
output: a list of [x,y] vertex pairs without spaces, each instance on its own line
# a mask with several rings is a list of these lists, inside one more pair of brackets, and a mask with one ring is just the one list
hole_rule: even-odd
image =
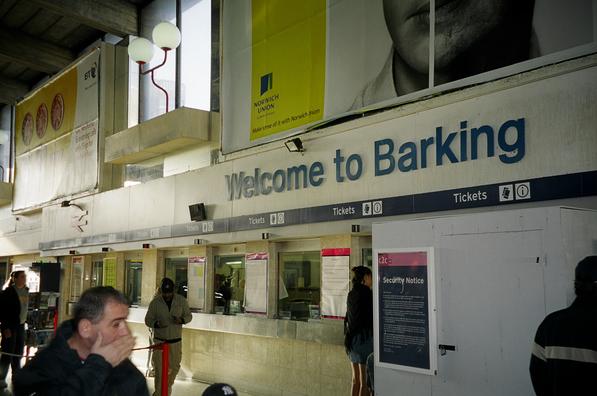
[[[47,207],[42,241],[188,223],[188,205],[198,202],[205,203],[209,218],[227,218],[595,170],[597,113],[590,104],[597,101],[596,64],[597,57],[592,57],[558,65],[524,78],[473,87],[316,131],[304,137],[304,155],[288,153],[277,143],[250,155],[224,158],[211,167],[80,199],[77,204],[89,211],[83,232],[68,221],[76,214],[72,208]],[[460,121],[467,120],[469,127],[490,125],[497,135],[503,122],[521,117],[525,118],[526,154],[517,163],[501,162],[499,148],[494,157],[487,157],[481,148],[475,161],[446,161],[438,166],[431,154],[426,169],[373,174],[373,146],[379,139],[395,142],[397,158],[400,144],[418,144],[420,139],[434,136],[437,126],[444,127],[445,136],[458,131]],[[452,147],[458,153],[458,140]],[[364,167],[358,180],[335,180],[332,160],[336,149],[341,149],[345,158],[355,153],[361,156]],[[228,200],[225,175],[241,171],[252,175],[255,168],[273,172],[315,161],[325,168],[320,187]]]

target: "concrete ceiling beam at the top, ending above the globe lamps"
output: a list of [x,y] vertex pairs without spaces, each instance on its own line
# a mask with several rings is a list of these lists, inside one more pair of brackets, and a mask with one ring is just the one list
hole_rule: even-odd
[[56,14],[119,37],[138,36],[137,6],[125,0],[29,0]]

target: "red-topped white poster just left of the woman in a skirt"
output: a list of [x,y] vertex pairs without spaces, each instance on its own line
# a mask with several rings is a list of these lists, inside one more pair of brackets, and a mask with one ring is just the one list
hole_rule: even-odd
[[350,249],[321,251],[321,317],[344,319],[350,273]]

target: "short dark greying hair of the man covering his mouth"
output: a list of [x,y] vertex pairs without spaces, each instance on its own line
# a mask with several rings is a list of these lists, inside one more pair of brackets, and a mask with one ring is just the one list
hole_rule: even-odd
[[87,289],[75,305],[73,326],[76,330],[83,319],[97,323],[104,317],[104,309],[108,302],[129,305],[127,298],[112,286],[97,286]]

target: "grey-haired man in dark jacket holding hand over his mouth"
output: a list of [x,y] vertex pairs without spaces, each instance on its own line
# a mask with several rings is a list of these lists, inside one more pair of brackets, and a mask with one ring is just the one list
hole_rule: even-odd
[[148,396],[145,377],[128,359],[135,344],[128,310],[113,287],[86,290],[73,319],[13,377],[15,396]]

